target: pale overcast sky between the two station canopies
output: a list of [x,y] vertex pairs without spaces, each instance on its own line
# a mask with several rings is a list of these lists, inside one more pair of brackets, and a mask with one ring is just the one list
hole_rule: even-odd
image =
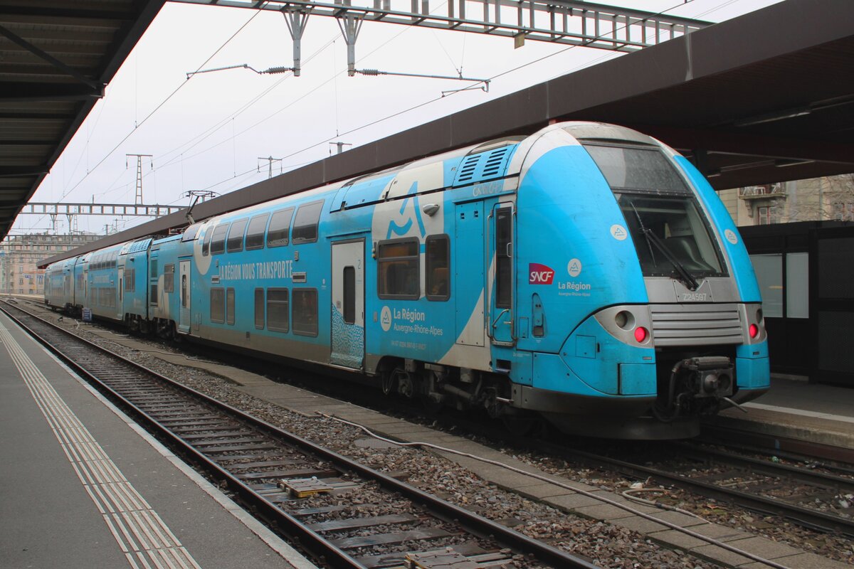
[[[717,22],[777,1],[602,3]],[[438,0],[430,6],[447,12]],[[188,80],[187,73],[200,68],[290,67],[290,33],[275,12],[167,3],[32,201],[133,203],[137,162],[126,154],[152,154],[143,160],[143,201],[184,206],[189,190],[221,195],[265,179],[269,161],[259,157],[282,159],[273,162],[278,174],[325,158],[330,142],[359,146],[622,56],[568,47],[528,41],[513,49],[512,38],[377,22],[362,26],[355,46],[359,69],[494,78],[488,93],[467,90],[442,97],[444,90],[471,83],[348,77],[347,46],[336,21],[312,16],[302,39],[301,77],[231,69]],[[102,233],[106,224],[126,229],[147,219],[80,217],[76,229]],[[50,229],[50,218],[21,215],[11,234]],[[60,216],[57,231],[67,230]]]

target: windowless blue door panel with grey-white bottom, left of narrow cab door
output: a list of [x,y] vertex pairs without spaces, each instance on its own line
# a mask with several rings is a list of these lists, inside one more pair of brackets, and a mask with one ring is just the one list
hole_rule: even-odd
[[453,240],[453,294],[457,344],[484,345],[483,202],[459,204]]

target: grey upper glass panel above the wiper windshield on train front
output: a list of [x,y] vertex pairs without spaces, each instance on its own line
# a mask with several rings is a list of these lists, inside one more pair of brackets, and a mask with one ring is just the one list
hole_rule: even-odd
[[685,182],[660,149],[584,143],[615,192],[688,195]]

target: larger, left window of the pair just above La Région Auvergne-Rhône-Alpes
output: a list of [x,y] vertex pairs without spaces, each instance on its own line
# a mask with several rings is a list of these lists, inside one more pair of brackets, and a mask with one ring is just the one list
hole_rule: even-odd
[[377,243],[377,294],[381,299],[418,299],[418,238]]

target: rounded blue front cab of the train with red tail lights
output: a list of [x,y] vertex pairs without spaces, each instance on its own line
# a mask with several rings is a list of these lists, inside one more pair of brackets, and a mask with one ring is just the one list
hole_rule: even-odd
[[678,438],[767,390],[755,276],[693,166],[619,127],[556,125],[532,139],[518,152],[529,163],[506,313],[516,349],[493,345],[512,363],[514,406],[568,432]]

